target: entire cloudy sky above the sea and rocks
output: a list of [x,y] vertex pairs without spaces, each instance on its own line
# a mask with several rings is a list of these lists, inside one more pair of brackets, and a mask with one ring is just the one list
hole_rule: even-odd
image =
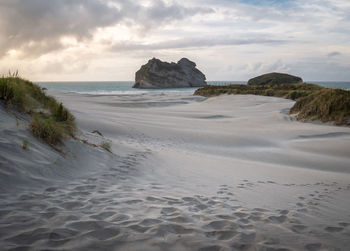
[[349,0],[0,0],[0,73],[134,80],[153,57],[207,80],[350,81]]

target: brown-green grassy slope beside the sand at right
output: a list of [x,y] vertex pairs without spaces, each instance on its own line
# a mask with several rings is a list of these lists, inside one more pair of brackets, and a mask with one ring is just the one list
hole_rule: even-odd
[[220,94],[254,94],[296,100],[291,114],[298,120],[321,120],[336,125],[350,125],[350,91],[324,88],[314,84],[279,85],[208,85],[194,95],[205,97]]

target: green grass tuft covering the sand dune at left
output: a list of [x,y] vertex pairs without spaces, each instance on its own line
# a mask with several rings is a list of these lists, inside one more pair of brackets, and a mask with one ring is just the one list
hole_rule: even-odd
[[74,135],[74,116],[62,103],[17,74],[0,78],[0,100],[7,107],[30,114],[33,135],[52,146]]

